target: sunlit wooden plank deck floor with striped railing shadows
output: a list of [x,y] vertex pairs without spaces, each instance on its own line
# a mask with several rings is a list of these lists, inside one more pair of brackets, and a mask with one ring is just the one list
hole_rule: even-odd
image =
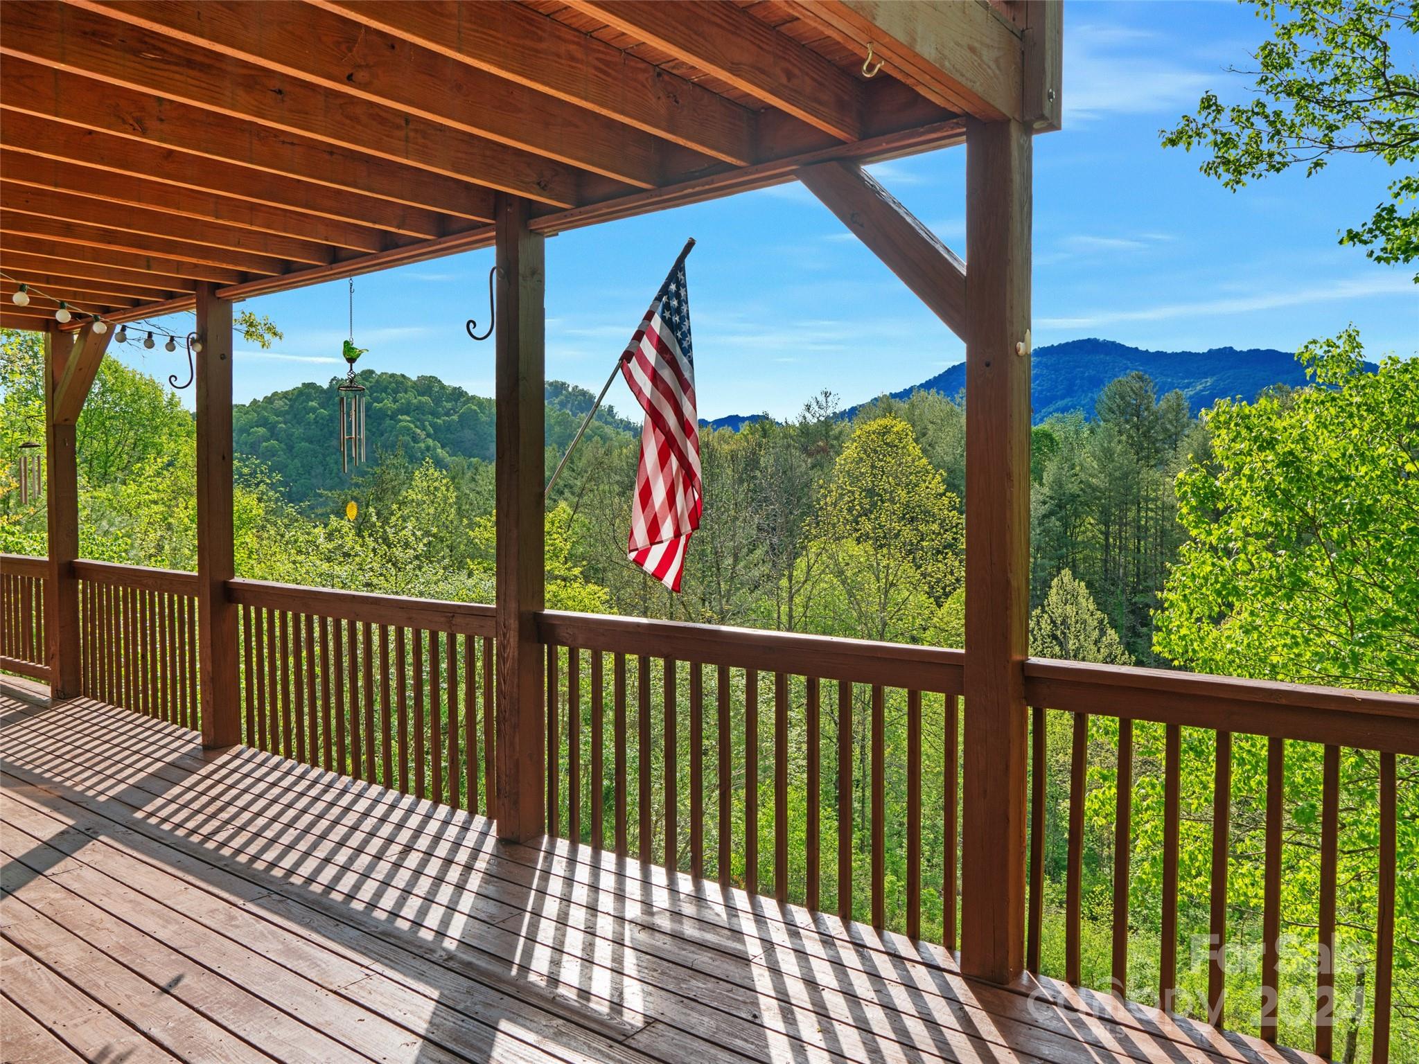
[[9,689],[6,1061],[1303,1060]]

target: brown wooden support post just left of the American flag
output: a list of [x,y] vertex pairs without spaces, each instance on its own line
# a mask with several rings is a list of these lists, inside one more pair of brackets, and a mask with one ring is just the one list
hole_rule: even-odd
[[497,214],[497,637],[498,837],[545,830],[543,593],[543,237],[528,201],[499,194]]

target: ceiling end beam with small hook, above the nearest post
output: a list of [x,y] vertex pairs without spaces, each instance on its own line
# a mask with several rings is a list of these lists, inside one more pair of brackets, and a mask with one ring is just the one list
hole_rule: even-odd
[[962,115],[1020,118],[1022,44],[1009,20],[973,0],[789,0],[800,18],[890,77]]

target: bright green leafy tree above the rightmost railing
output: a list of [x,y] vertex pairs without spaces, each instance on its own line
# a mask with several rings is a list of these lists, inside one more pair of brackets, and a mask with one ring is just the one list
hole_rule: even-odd
[[1315,386],[1208,414],[1155,647],[1205,672],[1419,694],[1419,360],[1305,345]]

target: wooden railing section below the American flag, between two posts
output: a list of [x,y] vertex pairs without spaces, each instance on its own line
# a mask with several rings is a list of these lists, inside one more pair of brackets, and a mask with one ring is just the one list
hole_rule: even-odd
[[955,946],[961,651],[553,611],[539,630],[551,833],[912,936],[927,880]]

